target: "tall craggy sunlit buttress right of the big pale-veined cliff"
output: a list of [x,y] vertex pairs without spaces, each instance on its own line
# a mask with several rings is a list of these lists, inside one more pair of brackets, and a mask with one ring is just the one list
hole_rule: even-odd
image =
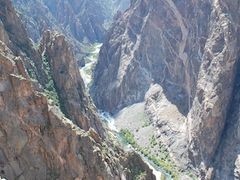
[[196,165],[209,165],[225,128],[240,58],[239,17],[239,2],[213,2],[196,97],[188,115],[191,158]]

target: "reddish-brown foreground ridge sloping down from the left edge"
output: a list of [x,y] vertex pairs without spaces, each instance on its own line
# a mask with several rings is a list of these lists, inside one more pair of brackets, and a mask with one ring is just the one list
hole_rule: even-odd
[[155,179],[138,155],[125,155],[117,146],[113,151],[93,129],[79,129],[50,106],[35,90],[21,58],[2,41],[0,78],[2,178],[133,179],[133,163],[146,179]]

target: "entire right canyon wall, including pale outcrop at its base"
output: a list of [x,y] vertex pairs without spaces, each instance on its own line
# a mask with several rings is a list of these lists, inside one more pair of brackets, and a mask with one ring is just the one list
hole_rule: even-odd
[[179,166],[237,179],[239,16],[235,0],[132,1],[100,51],[97,107],[115,113],[145,97]]

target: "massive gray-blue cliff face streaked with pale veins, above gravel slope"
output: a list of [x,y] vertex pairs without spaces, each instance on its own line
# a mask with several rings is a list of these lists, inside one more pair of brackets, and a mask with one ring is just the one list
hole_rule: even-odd
[[150,84],[158,83],[186,114],[195,93],[210,8],[208,1],[133,1],[100,51],[91,90],[96,105],[115,112],[143,101]]

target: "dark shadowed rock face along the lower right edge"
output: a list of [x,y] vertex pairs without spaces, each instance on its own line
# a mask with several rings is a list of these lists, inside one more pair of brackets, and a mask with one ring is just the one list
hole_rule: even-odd
[[216,164],[216,179],[232,180],[239,179],[239,155],[240,155],[240,118],[239,118],[239,64],[237,65],[237,76],[233,90],[233,99],[231,100],[229,111],[227,113],[226,125],[217,149],[217,156],[214,164]]

